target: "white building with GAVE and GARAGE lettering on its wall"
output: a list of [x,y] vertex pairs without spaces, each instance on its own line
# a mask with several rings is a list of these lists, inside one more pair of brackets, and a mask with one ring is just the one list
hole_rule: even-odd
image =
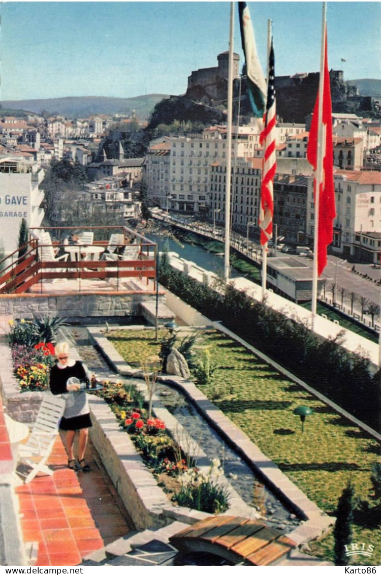
[[6,254],[18,247],[22,218],[28,227],[39,227],[44,218],[40,208],[44,191],[39,189],[44,170],[17,156],[0,156],[0,228]]

